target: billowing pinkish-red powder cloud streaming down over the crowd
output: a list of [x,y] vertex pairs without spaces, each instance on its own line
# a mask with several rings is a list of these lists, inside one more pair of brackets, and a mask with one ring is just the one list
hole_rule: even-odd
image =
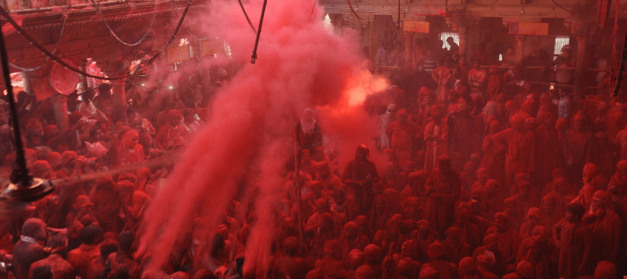
[[[294,154],[298,117],[306,107],[317,108],[322,121],[329,122],[323,125],[325,135],[347,144],[352,153],[377,135],[376,121],[359,104],[387,85],[366,71],[354,34],[328,33],[320,20],[323,10],[316,5],[312,14],[309,0],[268,1],[255,65],[247,62],[255,34],[238,3],[212,3],[206,15],[187,24],[228,42],[233,61],[243,68],[216,96],[212,121],[187,146],[155,197],[138,256],[150,253],[148,269],[164,269],[201,216],[209,229],[194,237],[211,243],[216,233],[211,228],[223,220],[243,178],[258,188],[258,222],[247,241],[244,269],[262,277],[270,264],[275,209],[284,187],[284,162]],[[258,22],[261,1],[247,5],[247,12]],[[210,250],[208,246],[203,249]]]

